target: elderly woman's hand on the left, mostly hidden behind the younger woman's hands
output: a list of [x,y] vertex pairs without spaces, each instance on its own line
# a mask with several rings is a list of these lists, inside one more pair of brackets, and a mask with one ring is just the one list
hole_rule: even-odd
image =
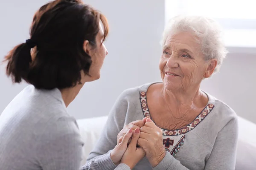
[[[143,127],[146,122],[146,119],[147,117],[145,117],[143,120],[136,120],[134,122],[129,123],[128,125],[125,125],[125,127],[117,135],[117,144],[122,142],[122,139],[125,133],[128,132],[128,130],[130,129],[135,130],[136,128],[140,129],[140,127]],[[131,139],[129,139],[128,143],[130,142],[131,142]]]

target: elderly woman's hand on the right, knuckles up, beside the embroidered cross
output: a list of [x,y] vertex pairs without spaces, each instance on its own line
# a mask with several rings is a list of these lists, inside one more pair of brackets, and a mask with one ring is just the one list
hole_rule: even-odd
[[146,157],[153,167],[157,166],[166,154],[163,132],[150,118],[146,119],[145,125],[140,128],[138,145],[145,150]]

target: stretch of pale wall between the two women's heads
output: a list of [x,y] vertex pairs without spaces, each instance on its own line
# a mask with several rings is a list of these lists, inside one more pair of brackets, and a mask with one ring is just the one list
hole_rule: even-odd
[[126,88],[158,77],[164,0],[86,0],[106,15],[110,34],[101,78],[85,84],[69,106],[77,118],[107,115]]

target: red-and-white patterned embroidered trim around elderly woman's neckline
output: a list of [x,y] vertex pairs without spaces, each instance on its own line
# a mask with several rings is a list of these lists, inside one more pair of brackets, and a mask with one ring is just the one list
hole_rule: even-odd
[[[141,105],[141,109],[142,109],[144,117],[149,116],[151,118],[149,109],[148,109],[146,92],[144,92],[144,91],[140,91],[140,105]],[[194,129],[200,122],[202,122],[202,120],[204,120],[204,118],[206,116],[208,116],[208,114],[212,111],[213,108],[214,108],[213,104],[211,104],[211,103],[208,104],[203,109],[203,111],[201,111],[201,113],[191,123],[189,123],[188,125],[180,128],[180,129],[167,130],[167,129],[161,128],[163,131],[163,136],[178,136],[178,135],[185,134],[185,133],[189,132],[190,130]]]

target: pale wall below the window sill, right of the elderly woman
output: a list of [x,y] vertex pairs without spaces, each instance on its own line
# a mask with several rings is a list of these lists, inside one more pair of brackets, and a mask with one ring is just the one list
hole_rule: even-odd
[[251,54],[230,53],[220,73],[202,82],[201,88],[224,101],[236,113],[256,123],[256,49]]

